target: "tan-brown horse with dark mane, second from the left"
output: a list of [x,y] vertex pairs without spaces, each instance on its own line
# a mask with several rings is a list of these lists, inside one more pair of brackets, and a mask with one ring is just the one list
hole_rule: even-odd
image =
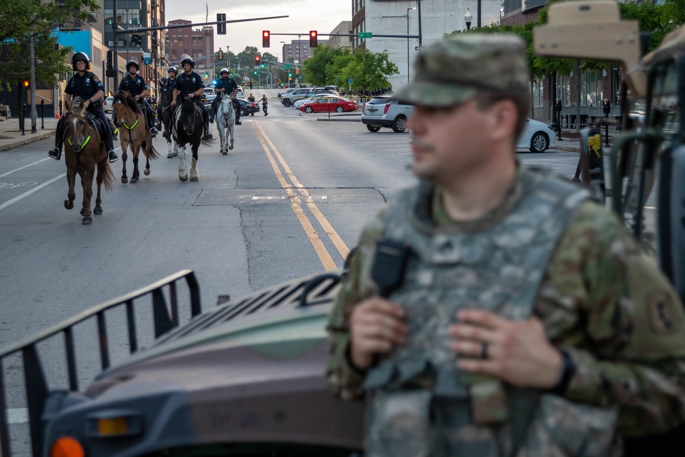
[[136,103],[133,97],[129,95],[129,92],[119,92],[116,94],[112,106],[116,113],[116,126],[119,127],[119,142],[121,143],[121,162],[123,164],[121,182],[124,184],[128,182],[126,160],[128,158],[127,151],[130,146],[133,153],[131,184],[134,184],[140,178],[138,154],[141,147],[147,159],[145,162],[146,176],[150,174],[150,160],[158,159],[160,155],[152,145],[151,125],[147,125],[145,113],[142,112],[140,105]]

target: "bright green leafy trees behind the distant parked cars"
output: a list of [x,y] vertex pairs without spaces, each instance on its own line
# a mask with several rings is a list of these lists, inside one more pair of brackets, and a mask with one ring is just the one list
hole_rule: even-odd
[[335,84],[347,87],[352,79],[352,90],[379,90],[390,88],[388,76],[397,75],[399,69],[390,62],[387,52],[374,53],[366,49],[349,49],[319,46],[304,62],[308,82],[316,86]]

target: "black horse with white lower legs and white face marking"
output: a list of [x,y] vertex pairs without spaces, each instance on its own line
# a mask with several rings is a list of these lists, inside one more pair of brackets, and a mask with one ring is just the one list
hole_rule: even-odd
[[172,143],[177,143],[178,151],[178,179],[188,181],[186,169],[186,144],[190,144],[192,160],[190,161],[190,181],[197,181],[200,175],[197,171],[197,149],[200,144],[212,145],[210,140],[203,139],[205,123],[202,119],[202,111],[190,97],[182,97],[179,106],[171,111],[171,136]]

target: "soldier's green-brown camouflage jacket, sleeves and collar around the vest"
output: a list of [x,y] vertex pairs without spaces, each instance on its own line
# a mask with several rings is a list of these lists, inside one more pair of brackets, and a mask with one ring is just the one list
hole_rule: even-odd
[[[440,203],[439,189],[431,214],[436,225],[463,230],[477,230],[491,215],[453,222]],[[384,219],[381,212],[364,230],[329,317],[327,378],[343,399],[364,393],[365,373],[349,363],[348,318],[353,306],[376,294],[371,278],[362,274],[370,270],[364,252],[373,251],[382,238]],[[597,203],[586,201],[573,214],[551,255],[534,315],[545,325],[549,341],[565,349],[577,367],[566,399],[619,406],[618,432],[628,436],[664,432],[683,421],[684,309],[653,261]]]

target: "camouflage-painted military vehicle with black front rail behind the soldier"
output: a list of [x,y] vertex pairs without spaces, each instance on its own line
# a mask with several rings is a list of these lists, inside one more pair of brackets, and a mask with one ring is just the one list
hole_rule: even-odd
[[[550,6],[535,42],[543,55],[620,62],[626,102],[624,133],[610,151],[612,206],[644,240],[655,190],[654,249],[685,297],[685,187],[678,179],[685,175],[685,31],[641,58],[637,23],[621,21],[613,0],[564,2]],[[304,277],[239,300],[220,297],[203,311],[195,275],[181,271],[0,350],[1,455],[16,455],[13,446],[36,457],[360,454],[362,404],[336,401],[324,380],[326,316],[343,274]],[[148,306],[156,339],[141,349],[145,325],[136,316]],[[116,310],[122,341],[107,325]],[[184,312],[190,317],[180,324]],[[76,334],[89,329],[102,371],[80,390],[76,345],[85,337]],[[48,379],[55,360],[41,358],[45,345],[63,349],[65,385]],[[112,365],[110,352],[122,345],[131,355]],[[23,428],[7,414],[8,392],[14,405],[22,388]],[[20,436],[25,429],[29,439]],[[680,456],[684,432],[626,439],[625,455]]]

